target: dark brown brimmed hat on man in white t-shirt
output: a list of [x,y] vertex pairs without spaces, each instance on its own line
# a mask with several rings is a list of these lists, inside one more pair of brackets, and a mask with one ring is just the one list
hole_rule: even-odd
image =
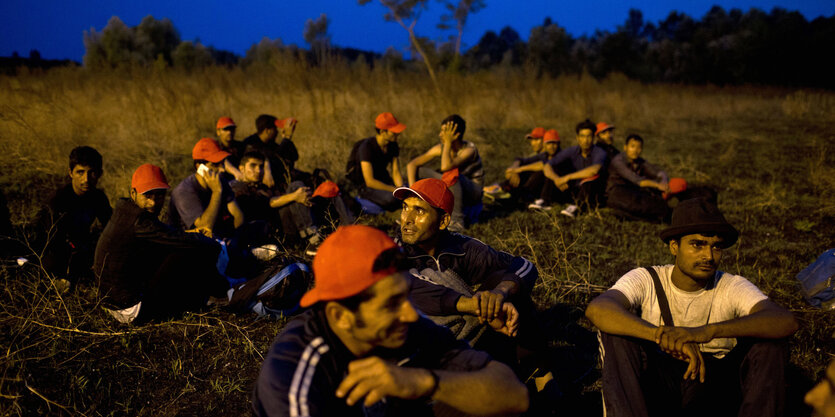
[[736,243],[737,231],[719,211],[719,208],[703,198],[684,200],[673,210],[670,227],[659,236],[665,243],[670,239],[692,234],[721,236],[722,247]]

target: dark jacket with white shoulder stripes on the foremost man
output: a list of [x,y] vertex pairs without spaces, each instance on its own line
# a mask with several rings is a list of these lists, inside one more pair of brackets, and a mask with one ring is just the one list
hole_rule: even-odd
[[[397,349],[375,349],[368,355],[398,366],[474,371],[491,358],[455,340],[449,330],[426,318],[409,325],[406,342]],[[429,416],[425,400],[386,398],[371,407],[353,407],[336,397],[358,359],[333,333],[321,309],[314,308],[287,324],[264,358],[255,383],[252,411],[256,416]]]

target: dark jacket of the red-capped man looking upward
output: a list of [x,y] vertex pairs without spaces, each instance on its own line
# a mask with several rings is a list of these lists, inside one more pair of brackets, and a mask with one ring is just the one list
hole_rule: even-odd
[[[491,289],[502,281],[513,281],[519,285],[520,295],[530,294],[539,277],[536,267],[530,261],[497,251],[468,236],[445,230],[440,233],[435,256],[429,255],[417,245],[404,244],[397,239],[417,272],[427,268],[439,273],[451,271],[473,291]],[[441,304],[449,302],[449,299],[443,300]]]

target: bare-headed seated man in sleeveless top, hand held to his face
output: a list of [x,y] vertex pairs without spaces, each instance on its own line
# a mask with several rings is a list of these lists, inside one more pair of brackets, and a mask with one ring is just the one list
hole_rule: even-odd
[[[484,177],[484,166],[481,164],[478,149],[474,143],[464,140],[466,131],[467,122],[461,116],[448,116],[441,121],[441,132],[438,133],[441,143],[429,148],[406,165],[410,185],[420,178],[440,179],[443,173],[458,170],[458,181],[449,187],[455,196],[455,208],[450,213],[452,222],[449,227],[456,232],[464,230],[464,206],[475,205],[481,201]],[[435,158],[440,159],[440,169],[435,171],[426,168],[425,165]]]

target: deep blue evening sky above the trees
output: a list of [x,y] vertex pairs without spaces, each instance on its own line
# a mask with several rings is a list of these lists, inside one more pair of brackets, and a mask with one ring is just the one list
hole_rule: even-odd
[[[486,0],[487,7],[470,17],[464,33],[464,48],[474,45],[487,30],[511,26],[527,39],[531,27],[550,16],[571,34],[592,34],[596,29],[614,30],[622,24],[630,8],[656,22],[671,11],[701,18],[714,4],[726,10],[747,11],[757,7],[799,10],[807,19],[835,14],[833,0]],[[437,0],[429,1],[417,26],[420,35],[445,39],[452,32],[435,28],[443,11]],[[128,26],[143,17],[167,17],[174,22],[183,40],[199,39],[205,45],[243,55],[263,37],[280,38],[285,44],[305,46],[302,32],[307,19],[325,13],[331,20],[332,43],[383,52],[388,46],[404,50],[406,32],[396,23],[385,22],[379,1],[360,6],[356,0],[2,0],[0,15],[0,56],[17,51],[28,56],[37,49],[44,58],[81,60],[84,55],[82,33],[101,30],[111,16],[119,16]]]

